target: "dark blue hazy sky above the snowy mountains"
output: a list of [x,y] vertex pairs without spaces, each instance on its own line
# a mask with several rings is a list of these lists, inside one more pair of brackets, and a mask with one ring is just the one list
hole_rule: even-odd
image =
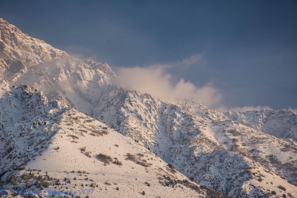
[[2,0],[0,17],[119,72],[211,87],[212,107],[297,109],[297,1]]

